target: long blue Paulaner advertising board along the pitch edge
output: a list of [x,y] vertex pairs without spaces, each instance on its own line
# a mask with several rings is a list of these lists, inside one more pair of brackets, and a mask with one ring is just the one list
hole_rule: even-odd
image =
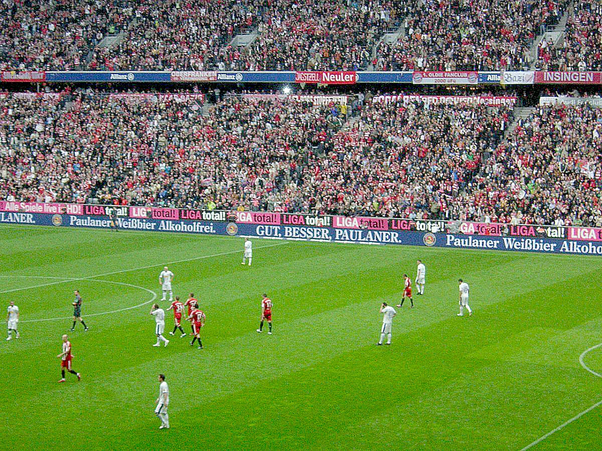
[[[103,216],[49,213],[0,212],[0,223],[54,225],[110,229]],[[295,241],[352,244],[397,244],[457,249],[520,251],[602,256],[602,242],[513,236],[455,235],[406,230],[337,229],[311,225],[240,224],[237,222],[186,221],[182,219],[117,218],[120,229],[152,232],[199,233],[203,235],[250,236]]]

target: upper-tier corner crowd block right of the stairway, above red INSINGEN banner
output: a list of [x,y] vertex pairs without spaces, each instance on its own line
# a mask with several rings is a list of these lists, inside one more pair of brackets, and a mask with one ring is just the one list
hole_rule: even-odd
[[577,0],[560,43],[542,40],[542,70],[602,70],[602,1]]

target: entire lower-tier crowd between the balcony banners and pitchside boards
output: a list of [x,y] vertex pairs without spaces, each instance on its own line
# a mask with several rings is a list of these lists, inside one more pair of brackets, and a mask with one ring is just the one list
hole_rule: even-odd
[[602,111],[349,96],[0,96],[0,197],[600,225]]

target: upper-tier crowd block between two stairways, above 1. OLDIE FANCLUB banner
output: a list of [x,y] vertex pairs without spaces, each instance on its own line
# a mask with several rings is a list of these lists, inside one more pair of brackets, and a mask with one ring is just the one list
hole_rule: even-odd
[[526,70],[529,47],[558,22],[566,1],[422,2],[409,8],[406,33],[378,49],[379,70]]

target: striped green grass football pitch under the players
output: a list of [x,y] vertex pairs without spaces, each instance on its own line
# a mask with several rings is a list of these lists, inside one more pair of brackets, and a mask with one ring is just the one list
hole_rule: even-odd
[[[596,257],[256,239],[249,268],[240,238],[36,227],[0,227],[0,245],[0,305],[21,313],[0,348],[4,449],[520,450],[602,399],[579,362],[602,342]],[[399,301],[417,258],[425,295],[375,346],[380,303]],[[151,346],[165,264],[175,294],[200,299],[203,350]],[[82,380],[57,384],[74,289]],[[255,332],[263,292],[272,336]],[[602,348],[583,362],[602,373]],[[169,431],[153,413],[160,372]],[[599,449],[601,411],[532,449]]]

